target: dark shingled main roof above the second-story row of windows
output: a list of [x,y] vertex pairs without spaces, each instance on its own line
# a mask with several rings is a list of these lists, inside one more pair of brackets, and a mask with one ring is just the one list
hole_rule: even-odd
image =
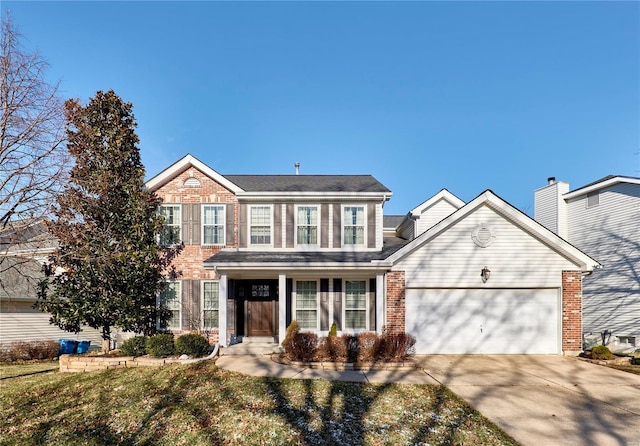
[[377,192],[390,194],[371,175],[225,175],[245,192]]

